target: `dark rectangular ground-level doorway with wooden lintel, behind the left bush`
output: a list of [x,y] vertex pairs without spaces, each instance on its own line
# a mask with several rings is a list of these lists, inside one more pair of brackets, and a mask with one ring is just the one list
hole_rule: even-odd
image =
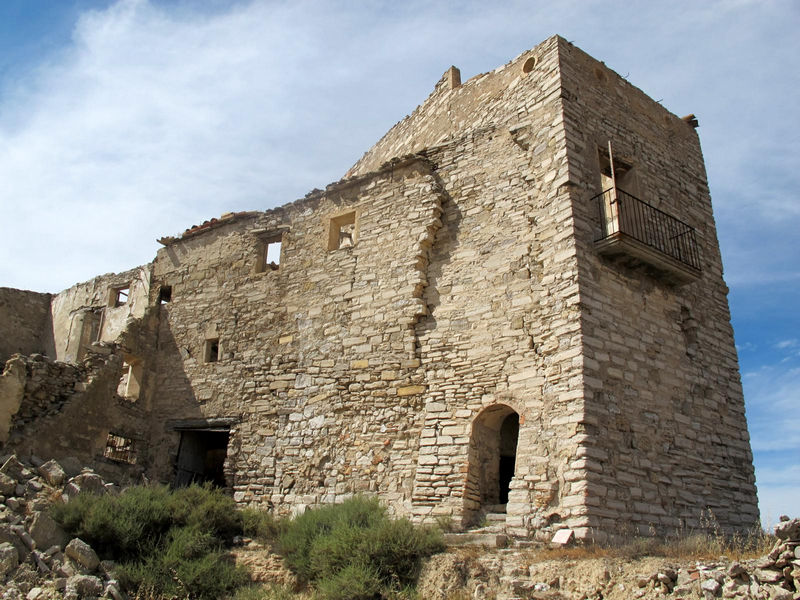
[[206,482],[225,487],[230,431],[227,428],[187,429],[180,434],[175,487]]

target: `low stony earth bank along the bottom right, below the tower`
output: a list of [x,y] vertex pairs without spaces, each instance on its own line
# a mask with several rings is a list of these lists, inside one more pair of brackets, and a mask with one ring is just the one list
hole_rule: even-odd
[[426,600],[800,600],[800,519],[781,519],[758,559],[537,560],[518,548],[458,548],[427,561],[418,590]]

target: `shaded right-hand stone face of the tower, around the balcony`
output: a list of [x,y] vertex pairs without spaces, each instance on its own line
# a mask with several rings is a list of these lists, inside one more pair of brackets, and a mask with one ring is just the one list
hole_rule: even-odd
[[[727,287],[695,130],[562,40],[580,259],[587,470],[582,525],[647,533],[758,521]],[[602,258],[599,149],[633,165],[634,193],[697,229],[702,275],[675,287]],[[706,514],[708,517],[708,514]],[[625,531],[625,529],[628,531]]]

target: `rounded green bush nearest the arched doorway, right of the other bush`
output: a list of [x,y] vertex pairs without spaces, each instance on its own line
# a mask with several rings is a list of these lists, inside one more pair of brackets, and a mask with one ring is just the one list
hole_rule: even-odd
[[391,519],[364,497],[307,511],[278,542],[287,566],[326,600],[385,598],[412,586],[421,559],[444,549],[438,529]]

